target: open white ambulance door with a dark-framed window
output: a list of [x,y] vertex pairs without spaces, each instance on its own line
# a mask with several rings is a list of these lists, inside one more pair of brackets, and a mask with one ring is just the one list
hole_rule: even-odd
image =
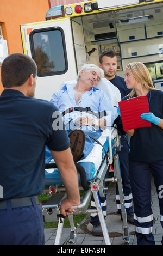
[[[72,26],[79,35],[81,26],[74,22]],[[49,101],[62,82],[76,79],[79,71],[76,57],[81,60],[84,58],[82,64],[86,63],[86,53],[85,57],[83,55],[85,47],[78,44],[78,36],[72,36],[69,18],[20,27],[24,54],[32,57],[38,68],[35,97]]]

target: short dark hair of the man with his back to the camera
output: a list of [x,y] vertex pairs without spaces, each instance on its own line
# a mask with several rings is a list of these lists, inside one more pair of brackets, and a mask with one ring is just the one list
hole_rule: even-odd
[[37,66],[32,58],[22,53],[13,53],[5,58],[1,66],[1,80],[3,87],[19,87],[29,76],[37,75]]

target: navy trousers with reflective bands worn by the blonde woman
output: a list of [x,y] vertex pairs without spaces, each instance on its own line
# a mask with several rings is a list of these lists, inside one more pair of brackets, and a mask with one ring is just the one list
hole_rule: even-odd
[[[151,205],[151,178],[158,193],[160,221],[163,227],[163,161],[155,163],[129,162],[130,184],[133,192],[134,222],[137,245],[155,245]],[[163,237],[161,241],[163,245]]]

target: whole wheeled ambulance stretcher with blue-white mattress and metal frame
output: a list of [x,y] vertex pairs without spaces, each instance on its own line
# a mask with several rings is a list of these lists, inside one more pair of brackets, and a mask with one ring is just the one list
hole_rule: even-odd
[[[118,151],[120,151],[121,148],[120,136],[118,136],[116,126],[105,129],[101,137],[99,137],[98,142],[94,143],[91,153],[85,159],[76,163],[79,189],[85,190],[86,192],[85,196],[81,198],[81,203],[77,206],[73,206],[73,209],[77,210],[74,214],[91,214],[96,212],[99,217],[99,222],[101,223],[105,244],[111,245],[99,196],[104,197],[104,181],[117,182],[123,218],[122,239],[124,245],[129,245],[129,229],[118,158]],[[114,163],[114,176],[105,179],[106,172],[108,172],[109,166],[112,163]],[[48,187],[45,192],[48,192],[51,197],[46,202],[42,203],[43,217],[45,222],[58,221],[54,245],[60,245],[62,228],[64,227],[64,216],[60,215],[59,205],[61,200],[66,197],[66,191],[53,160],[50,163],[46,163],[45,176],[46,187]],[[96,209],[88,209],[92,194]],[[70,245],[76,245],[77,243],[77,230],[73,223],[74,214],[68,215],[71,227],[70,239],[68,240]]]

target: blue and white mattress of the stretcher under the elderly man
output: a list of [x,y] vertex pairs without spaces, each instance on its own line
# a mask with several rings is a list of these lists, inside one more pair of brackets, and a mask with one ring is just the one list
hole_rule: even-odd
[[[105,129],[102,132],[102,135],[98,138],[98,141],[103,145],[105,150],[108,150],[109,148],[109,136],[111,136],[111,142],[114,142],[114,138],[116,137],[116,131],[111,134],[110,129]],[[97,142],[93,143],[94,147],[91,151],[91,153],[82,160],[79,160],[78,163],[84,168],[86,173],[86,180],[92,180],[96,173],[101,166],[101,162],[103,160],[104,155],[104,149],[103,147],[98,144]],[[46,163],[49,163],[48,160],[46,160]],[[50,163],[54,163],[52,160]],[[59,175],[59,171],[57,168],[55,169],[46,169],[45,170],[45,178],[46,178],[46,185],[52,185],[52,184],[62,184],[62,180]],[[78,180],[80,180],[80,174],[78,172]]]

